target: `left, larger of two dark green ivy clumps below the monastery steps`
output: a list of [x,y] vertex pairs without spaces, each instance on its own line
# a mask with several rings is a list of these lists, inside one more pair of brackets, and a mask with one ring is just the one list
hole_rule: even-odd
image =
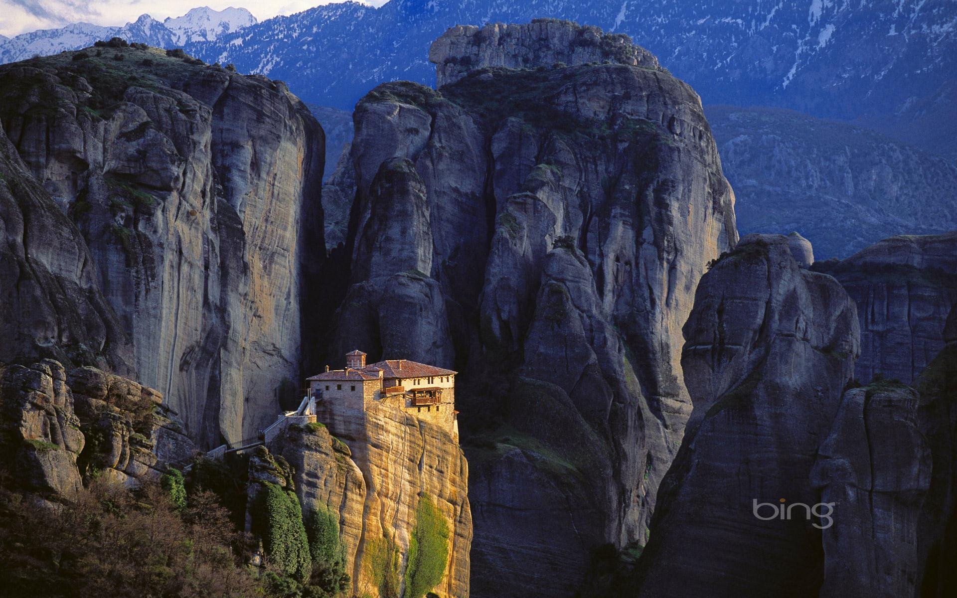
[[263,486],[254,522],[266,558],[289,577],[305,582],[312,573],[312,558],[299,499],[276,484],[263,482]]

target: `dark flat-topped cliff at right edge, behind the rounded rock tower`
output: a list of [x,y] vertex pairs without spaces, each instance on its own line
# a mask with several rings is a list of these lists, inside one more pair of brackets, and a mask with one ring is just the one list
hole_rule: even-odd
[[916,382],[944,347],[957,304],[957,233],[891,237],[814,269],[837,278],[857,303],[857,380]]

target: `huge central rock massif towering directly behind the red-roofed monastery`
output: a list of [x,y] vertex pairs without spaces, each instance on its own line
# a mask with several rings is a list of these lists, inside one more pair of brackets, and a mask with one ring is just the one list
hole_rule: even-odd
[[[621,60],[461,70],[569,39]],[[674,341],[733,197],[697,95],[620,36],[454,29],[433,55],[455,82],[356,108],[351,286],[316,364],[360,346],[462,372],[472,591],[570,595],[593,549],[645,538],[690,411]]]

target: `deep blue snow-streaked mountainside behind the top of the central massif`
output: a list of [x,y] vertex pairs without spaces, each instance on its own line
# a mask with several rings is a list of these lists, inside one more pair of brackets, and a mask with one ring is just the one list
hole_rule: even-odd
[[304,100],[351,109],[375,84],[434,81],[427,52],[456,24],[566,18],[629,33],[705,103],[817,116],[890,113],[957,73],[950,0],[391,0],[277,17],[189,48],[288,79]]

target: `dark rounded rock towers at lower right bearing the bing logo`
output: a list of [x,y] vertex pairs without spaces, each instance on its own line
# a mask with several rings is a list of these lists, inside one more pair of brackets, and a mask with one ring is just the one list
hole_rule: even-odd
[[[639,595],[953,589],[941,567],[954,550],[952,356],[920,391],[848,389],[856,311],[782,236],[745,237],[701,279],[682,355],[695,410],[661,485]],[[771,513],[782,506],[785,517]]]

